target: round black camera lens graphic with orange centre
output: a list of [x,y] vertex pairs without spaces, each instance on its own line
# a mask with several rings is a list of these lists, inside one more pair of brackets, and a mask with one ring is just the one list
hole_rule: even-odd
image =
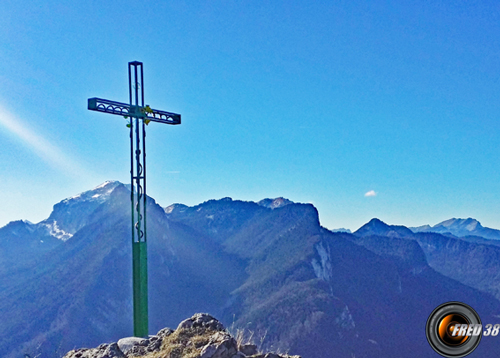
[[[429,316],[425,333],[431,347],[443,357],[465,357],[481,341],[478,336],[467,336],[457,325],[481,324],[479,315],[462,302],[448,302],[437,307]],[[455,335],[453,335],[455,333]]]

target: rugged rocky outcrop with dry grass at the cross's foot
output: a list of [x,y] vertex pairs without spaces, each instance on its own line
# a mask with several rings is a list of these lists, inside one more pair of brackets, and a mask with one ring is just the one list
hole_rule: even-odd
[[237,342],[222,323],[205,313],[182,321],[177,329],[164,328],[149,338],[122,338],[97,348],[80,348],[64,358],[300,358],[261,353],[253,344]]

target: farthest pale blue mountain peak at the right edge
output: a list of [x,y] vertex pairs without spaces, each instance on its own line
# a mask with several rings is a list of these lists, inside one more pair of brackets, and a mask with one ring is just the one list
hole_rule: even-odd
[[456,237],[479,236],[486,239],[500,240],[500,230],[483,227],[476,219],[449,219],[434,226],[411,227],[413,232],[435,232],[452,234]]

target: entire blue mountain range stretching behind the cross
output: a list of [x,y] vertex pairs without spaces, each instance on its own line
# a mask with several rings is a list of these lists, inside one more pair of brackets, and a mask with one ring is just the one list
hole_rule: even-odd
[[[129,189],[110,181],[38,224],[0,228],[2,357],[131,335],[129,210]],[[147,210],[151,332],[208,312],[304,358],[436,357],[425,324],[439,304],[468,303],[483,322],[500,314],[500,247],[479,223],[454,219],[443,235],[373,219],[332,232],[313,205],[284,198],[166,208],[148,198]],[[473,354],[496,357],[497,341]]]

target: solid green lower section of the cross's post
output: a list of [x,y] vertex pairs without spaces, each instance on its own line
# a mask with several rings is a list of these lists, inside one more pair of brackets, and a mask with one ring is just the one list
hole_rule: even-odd
[[134,285],[134,336],[147,337],[148,330],[148,262],[146,242],[132,243]]

